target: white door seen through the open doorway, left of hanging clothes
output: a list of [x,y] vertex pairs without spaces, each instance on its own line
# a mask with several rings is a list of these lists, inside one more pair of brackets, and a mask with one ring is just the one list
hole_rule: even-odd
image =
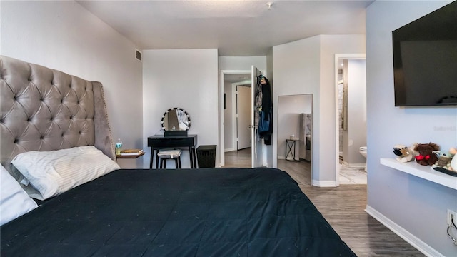
[[236,86],[236,150],[251,147],[251,88]]

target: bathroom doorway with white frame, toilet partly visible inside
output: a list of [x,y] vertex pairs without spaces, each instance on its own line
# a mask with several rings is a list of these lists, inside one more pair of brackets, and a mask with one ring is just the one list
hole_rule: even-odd
[[337,54],[336,183],[366,184],[366,58]]

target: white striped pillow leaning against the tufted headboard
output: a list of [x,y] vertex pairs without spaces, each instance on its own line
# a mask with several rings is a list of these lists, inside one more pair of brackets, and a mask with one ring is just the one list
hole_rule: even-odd
[[56,151],[19,153],[11,164],[24,175],[38,193],[29,196],[44,200],[119,169],[119,165],[94,146]]

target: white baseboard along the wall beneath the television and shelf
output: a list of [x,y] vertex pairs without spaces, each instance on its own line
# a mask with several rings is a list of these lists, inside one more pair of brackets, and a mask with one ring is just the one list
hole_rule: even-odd
[[444,257],[441,253],[436,251],[433,247],[428,246],[427,243],[419,239],[418,237],[414,236],[412,233],[409,233],[405,228],[402,228],[397,223],[391,221],[391,219],[384,216],[376,209],[372,208],[371,206],[366,206],[365,212],[368,213],[371,217],[375,218],[377,221],[381,222],[384,226],[390,229],[393,233],[396,233],[398,236],[403,238],[406,242],[411,244],[414,248],[421,251],[421,253],[425,254],[426,256],[433,256],[433,257]]

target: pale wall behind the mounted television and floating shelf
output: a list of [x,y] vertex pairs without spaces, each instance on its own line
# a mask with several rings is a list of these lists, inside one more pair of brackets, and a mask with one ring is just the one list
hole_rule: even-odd
[[375,1],[366,11],[367,208],[416,240],[416,246],[431,256],[457,254],[446,235],[446,210],[457,211],[457,191],[381,166],[379,159],[394,158],[392,147],[397,143],[434,142],[443,151],[457,146],[456,107],[399,108],[393,96],[391,32],[446,3]]

